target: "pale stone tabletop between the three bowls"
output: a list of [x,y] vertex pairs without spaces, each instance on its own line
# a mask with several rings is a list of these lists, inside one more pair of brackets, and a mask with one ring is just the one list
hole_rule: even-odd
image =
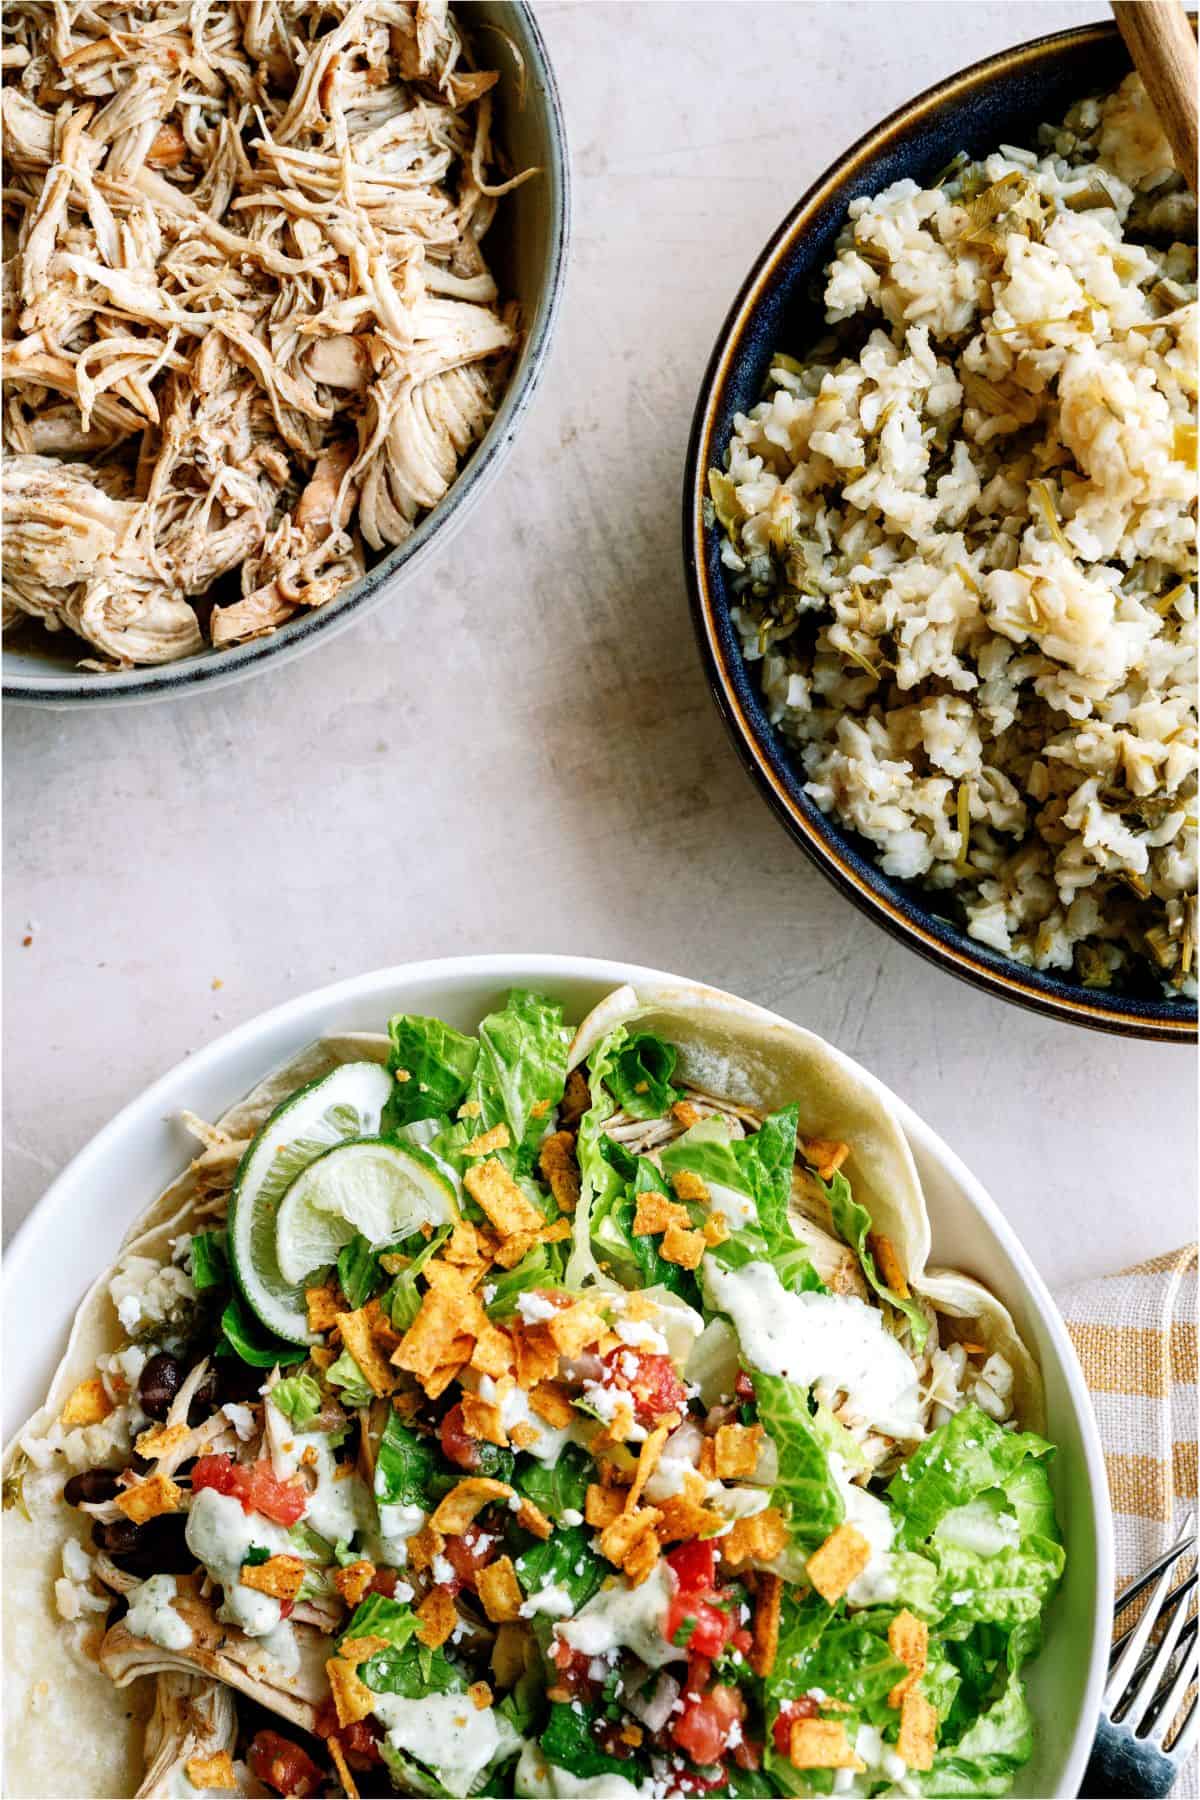
[[466,531],[248,684],[9,709],[9,1229],[142,1085],[263,1008],[543,949],[824,1033],[945,1134],[1051,1283],[1195,1231],[1193,1055],[1000,1004],[842,900],[725,738],[678,551],[705,360],[779,218],[930,81],[1101,11],[540,0],[574,144],[567,311]]

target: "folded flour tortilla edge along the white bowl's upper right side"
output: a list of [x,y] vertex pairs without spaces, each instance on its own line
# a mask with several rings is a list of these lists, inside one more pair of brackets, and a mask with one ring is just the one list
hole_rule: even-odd
[[[588,1013],[572,1040],[570,1067],[619,1024],[675,1044],[678,1080],[759,1112],[799,1102],[802,1138],[847,1143],[842,1172],[874,1229],[896,1246],[912,1291],[937,1312],[970,1321],[970,1332],[954,1336],[984,1343],[1007,1359],[1020,1424],[1045,1429],[1042,1375],[1007,1309],[979,1282],[928,1267],[928,1206],[909,1139],[887,1100],[849,1057],[813,1031],[720,988],[646,983],[617,988]],[[828,1219],[819,1222],[831,1229]]]

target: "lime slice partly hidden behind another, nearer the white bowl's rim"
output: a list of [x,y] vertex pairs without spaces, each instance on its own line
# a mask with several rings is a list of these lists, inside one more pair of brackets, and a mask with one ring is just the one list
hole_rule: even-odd
[[308,1328],[304,1289],[288,1282],[275,1258],[281,1201],[333,1145],[374,1136],[390,1093],[392,1076],[381,1064],[342,1062],[275,1107],[237,1166],[228,1202],[234,1274],[263,1325],[290,1343],[315,1343],[315,1334]]

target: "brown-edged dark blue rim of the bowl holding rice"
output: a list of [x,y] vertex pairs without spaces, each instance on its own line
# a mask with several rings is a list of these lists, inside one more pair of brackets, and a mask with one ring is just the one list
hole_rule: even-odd
[[[765,722],[763,707],[747,673],[747,664],[739,650],[732,648],[729,637],[723,637],[718,626],[723,599],[711,592],[705,565],[707,526],[703,522],[703,499],[707,491],[707,470],[712,461],[709,445],[718,427],[729,371],[741,351],[745,333],[774,268],[806,229],[811,214],[822,202],[833,198],[856,167],[880,149],[891,135],[903,126],[914,124],[934,108],[977,92],[991,77],[1020,65],[1031,67],[1052,61],[1067,47],[1112,43],[1114,40],[1117,40],[1115,23],[1097,20],[1090,25],[1051,32],[1007,50],[999,50],[946,76],[903,106],[898,106],[880,124],[864,131],[847,151],[837,157],[817,176],[813,185],[792,207],[772,232],[766,247],[738,290],[703,373],[684,468],[684,569],[696,641],[725,729],[775,817],[840,893],[896,940],[909,945],[919,956],[925,956],[927,961],[982,988],[986,994],[999,995],[1051,1019],[1090,1026],[1097,1031],[1195,1042],[1196,1013],[1193,1008],[1168,999],[1142,999],[1141,995],[1114,995],[1112,999],[1105,999],[1099,990],[1060,981],[1054,976],[1025,968],[1011,958],[972,943],[950,923],[945,923],[925,909],[918,909],[907,896],[898,895],[891,878],[867,857],[855,851],[837,826],[819,815],[811,803],[806,808],[801,803],[801,781],[790,756],[783,749],[777,733]],[[754,695],[752,704],[763,720],[761,727],[748,715],[743,693]]]

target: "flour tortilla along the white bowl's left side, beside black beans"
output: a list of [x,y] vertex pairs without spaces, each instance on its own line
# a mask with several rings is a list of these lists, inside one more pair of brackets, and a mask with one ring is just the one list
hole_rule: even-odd
[[[378,1033],[320,1039],[290,1058],[218,1121],[236,1143],[250,1139],[275,1107],[304,1082],[342,1062],[387,1062],[389,1040]],[[95,1373],[101,1355],[126,1341],[108,1285],[130,1256],[171,1260],[171,1242],[194,1226],[203,1197],[194,1168],[185,1170],[135,1220],[117,1264],[85,1294],[63,1361],[45,1404],[16,1433],[4,1453],[4,1474],[13,1471],[23,1442],[54,1427],[72,1390]],[[54,1582],[63,1573],[63,1544],[74,1537],[92,1548],[92,1521],[63,1501],[72,1471],[63,1458],[49,1471],[29,1469],[25,1503],[31,1517],[13,1507],[4,1514],[4,1670],[5,1741],[4,1795],[9,1800],[45,1800],[49,1795],[135,1795],[144,1777],[144,1732],[155,1703],[155,1679],[117,1688],[92,1660],[104,1616],[86,1615],[83,1627],[63,1625],[54,1604]],[[88,1654],[90,1652],[90,1654]]]

